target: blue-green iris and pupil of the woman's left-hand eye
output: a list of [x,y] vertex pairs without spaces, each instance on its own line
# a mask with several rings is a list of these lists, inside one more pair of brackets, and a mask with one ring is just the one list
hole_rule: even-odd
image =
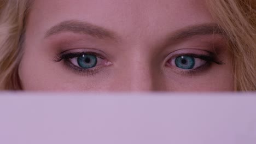
[[97,65],[97,56],[95,55],[82,55],[77,57],[79,67],[83,69],[94,68]]

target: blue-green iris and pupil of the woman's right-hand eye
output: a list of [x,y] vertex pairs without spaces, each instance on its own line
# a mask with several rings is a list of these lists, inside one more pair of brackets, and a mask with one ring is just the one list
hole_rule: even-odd
[[175,59],[176,67],[181,69],[193,69],[195,67],[195,58],[191,56],[179,56]]

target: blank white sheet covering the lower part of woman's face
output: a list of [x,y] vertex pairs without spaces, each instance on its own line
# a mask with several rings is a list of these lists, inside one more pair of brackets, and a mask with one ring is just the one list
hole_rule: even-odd
[[1,144],[255,144],[256,93],[0,93]]

